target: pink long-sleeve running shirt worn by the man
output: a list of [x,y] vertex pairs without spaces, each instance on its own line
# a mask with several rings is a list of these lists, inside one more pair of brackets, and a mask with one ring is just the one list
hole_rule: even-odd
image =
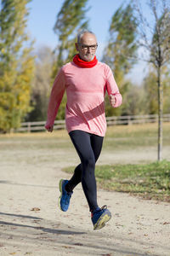
[[111,68],[99,62],[94,67],[78,67],[69,62],[61,67],[54,79],[48,103],[45,128],[54,125],[60,102],[66,91],[65,125],[68,132],[87,131],[105,136],[105,91],[116,97],[114,108],[122,104],[122,96]]

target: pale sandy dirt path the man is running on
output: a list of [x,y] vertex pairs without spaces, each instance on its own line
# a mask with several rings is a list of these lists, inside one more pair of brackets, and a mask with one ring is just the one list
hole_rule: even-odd
[[[145,154],[148,160],[154,160],[154,150],[136,152],[133,160],[141,162]],[[103,152],[99,163],[122,159],[128,162],[129,157],[127,152],[114,155]],[[70,161],[75,165],[78,162],[70,148],[1,150],[1,256],[170,255],[168,203],[143,201],[99,189],[99,206],[106,204],[112,218],[104,229],[94,231],[79,185],[72,195],[69,211],[59,211],[59,178],[70,177],[61,172],[61,167],[69,166]]]

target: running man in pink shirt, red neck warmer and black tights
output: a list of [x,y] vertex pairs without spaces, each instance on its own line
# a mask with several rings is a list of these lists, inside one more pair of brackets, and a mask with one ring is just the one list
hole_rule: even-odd
[[94,230],[103,228],[111,219],[111,212],[107,207],[98,206],[94,174],[106,131],[106,90],[113,108],[122,104],[122,96],[111,68],[96,58],[97,47],[93,32],[79,32],[76,43],[77,55],[60,68],[54,79],[45,125],[48,131],[53,131],[54,120],[66,91],[65,125],[79,155],[80,164],[70,180],[59,181],[59,208],[64,212],[68,210],[74,188],[78,183],[82,183]]

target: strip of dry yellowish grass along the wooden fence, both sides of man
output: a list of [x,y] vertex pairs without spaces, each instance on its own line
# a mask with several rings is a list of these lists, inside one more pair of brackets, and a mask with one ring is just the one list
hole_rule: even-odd
[[[170,123],[163,124],[163,146],[170,146]],[[25,144],[31,144],[31,147],[55,148],[56,143],[61,148],[71,146],[67,131],[59,130],[53,133],[13,133],[0,134],[1,148],[24,148]],[[142,125],[114,125],[107,128],[104,140],[104,150],[129,150],[133,148],[157,147],[157,124]]]

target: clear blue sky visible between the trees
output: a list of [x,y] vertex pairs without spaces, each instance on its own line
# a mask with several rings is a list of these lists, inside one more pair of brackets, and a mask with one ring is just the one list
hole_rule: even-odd
[[[81,0],[80,0],[81,1]],[[144,1],[144,0],[143,0]],[[28,3],[30,15],[28,16],[27,29],[31,38],[35,39],[35,48],[49,46],[52,49],[57,45],[57,35],[54,33],[54,24],[64,0],[32,0]],[[86,16],[89,19],[89,29],[96,34],[98,39],[97,57],[100,61],[102,53],[109,38],[111,17],[125,0],[88,0],[90,7]],[[145,64],[140,62],[129,74],[130,79],[140,84],[144,78]]]

